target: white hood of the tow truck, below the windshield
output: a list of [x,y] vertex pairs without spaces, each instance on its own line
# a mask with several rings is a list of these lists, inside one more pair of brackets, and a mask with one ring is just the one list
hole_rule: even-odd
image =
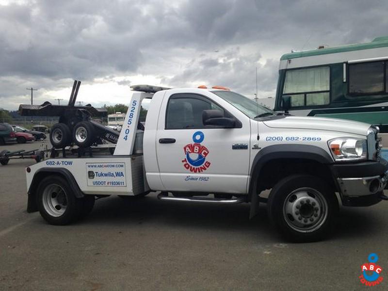
[[336,118],[286,116],[285,118],[266,120],[264,124],[271,128],[315,129],[340,131],[367,135],[370,124]]

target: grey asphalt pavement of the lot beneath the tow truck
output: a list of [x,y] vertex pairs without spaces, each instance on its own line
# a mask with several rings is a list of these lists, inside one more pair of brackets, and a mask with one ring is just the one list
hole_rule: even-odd
[[[38,148],[39,143],[0,146]],[[293,244],[266,206],[138,201],[110,196],[70,226],[27,213],[25,167],[0,165],[0,290],[364,290],[360,265],[376,253],[388,290],[388,202],[342,208],[333,236]]]

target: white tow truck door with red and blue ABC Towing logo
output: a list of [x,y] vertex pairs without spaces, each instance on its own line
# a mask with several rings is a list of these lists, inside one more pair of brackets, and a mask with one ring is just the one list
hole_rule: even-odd
[[237,119],[236,128],[204,126],[202,113],[210,109],[234,117],[205,95],[179,93],[164,98],[156,149],[165,190],[246,193],[249,118]]

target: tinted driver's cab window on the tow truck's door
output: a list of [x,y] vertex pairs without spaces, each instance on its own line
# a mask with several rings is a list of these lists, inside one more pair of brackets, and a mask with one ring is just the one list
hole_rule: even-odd
[[210,100],[199,97],[171,97],[167,104],[166,129],[201,129],[202,112],[209,109],[224,110]]

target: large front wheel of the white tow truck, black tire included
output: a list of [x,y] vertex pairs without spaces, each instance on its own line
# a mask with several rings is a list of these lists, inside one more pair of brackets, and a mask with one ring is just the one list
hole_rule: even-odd
[[271,222],[292,242],[314,242],[327,237],[333,232],[338,210],[334,191],[323,179],[309,175],[283,178],[268,199]]

